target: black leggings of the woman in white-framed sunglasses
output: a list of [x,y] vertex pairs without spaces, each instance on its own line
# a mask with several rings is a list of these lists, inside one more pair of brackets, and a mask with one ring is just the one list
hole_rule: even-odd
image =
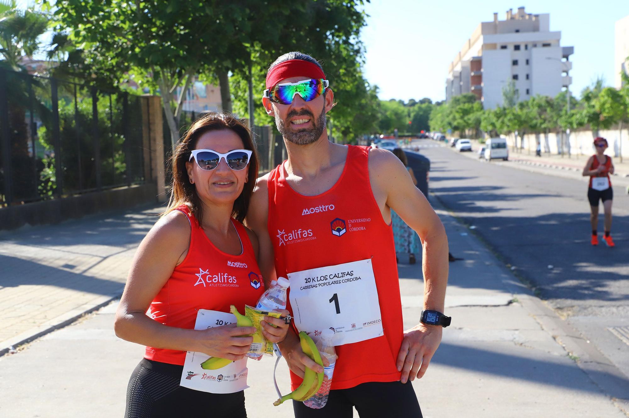
[[126,389],[125,418],[247,418],[245,393],[208,393],[179,386],[183,366],[142,359]]

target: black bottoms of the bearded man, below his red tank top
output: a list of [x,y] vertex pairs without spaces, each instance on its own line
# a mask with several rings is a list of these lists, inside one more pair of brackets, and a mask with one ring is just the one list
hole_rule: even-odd
[[352,418],[352,407],[360,418],[421,418],[420,404],[411,382],[368,382],[353,388],[330,390],[328,403],[321,409],[292,401],[295,418]]

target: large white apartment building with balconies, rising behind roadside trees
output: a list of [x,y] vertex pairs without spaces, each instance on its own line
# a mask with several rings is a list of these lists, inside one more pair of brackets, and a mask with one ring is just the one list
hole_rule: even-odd
[[474,93],[485,109],[503,104],[503,87],[515,82],[520,100],[557,96],[569,87],[568,60],[574,47],[560,45],[561,32],[550,31],[550,14],[506,12],[505,20],[480,23],[448,68],[445,99]]

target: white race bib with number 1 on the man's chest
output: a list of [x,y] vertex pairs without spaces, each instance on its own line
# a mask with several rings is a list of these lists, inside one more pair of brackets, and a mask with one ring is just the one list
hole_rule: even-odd
[[334,345],[384,335],[371,259],[289,273],[292,315],[299,331],[335,332]]

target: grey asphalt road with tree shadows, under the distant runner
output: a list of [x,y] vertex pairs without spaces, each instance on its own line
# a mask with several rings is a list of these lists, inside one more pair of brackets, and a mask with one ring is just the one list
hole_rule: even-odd
[[624,180],[613,180],[616,247],[593,247],[587,184],[579,173],[486,163],[435,147],[430,140],[418,145],[431,160],[431,192],[629,376],[629,196]]

